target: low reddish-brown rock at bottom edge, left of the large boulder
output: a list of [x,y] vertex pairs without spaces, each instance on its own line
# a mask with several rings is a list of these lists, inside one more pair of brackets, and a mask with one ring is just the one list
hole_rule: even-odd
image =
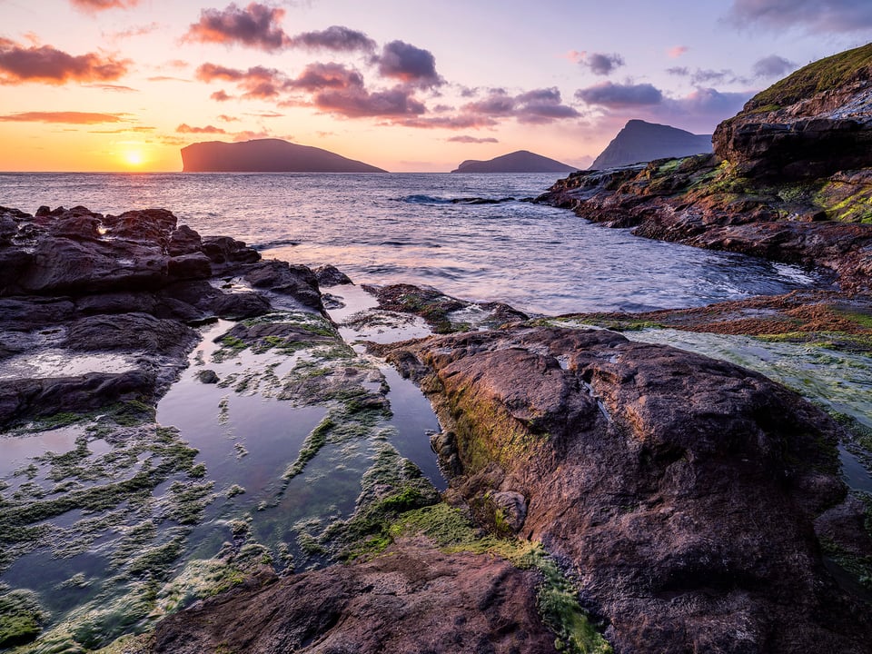
[[244,588],[163,620],[155,652],[553,652],[538,577],[401,540],[386,555]]

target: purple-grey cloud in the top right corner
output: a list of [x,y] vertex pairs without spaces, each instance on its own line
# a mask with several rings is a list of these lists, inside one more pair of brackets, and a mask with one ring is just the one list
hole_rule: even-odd
[[734,0],[729,19],[738,26],[775,29],[800,26],[809,32],[855,32],[872,27],[869,0]]

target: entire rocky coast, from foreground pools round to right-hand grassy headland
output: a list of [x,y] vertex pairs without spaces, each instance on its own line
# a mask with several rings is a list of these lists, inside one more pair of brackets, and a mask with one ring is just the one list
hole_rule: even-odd
[[[530,317],[263,261],[166,210],[0,208],[0,428],[69,445],[0,489],[0,571],[45,564],[54,589],[0,588],[0,648],[866,651],[872,497],[844,470],[872,431],[629,336],[868,362],[872,161],[846,144],[872,134],[870,65],[865,46],[801,69],[719,126],[713,155],[573,173],[540,198],[824,267],[836,283],[815,292]],[[447,488],[393,441],[407,380],[439,418]],[[282,439],[210,427],[194,447],[155,411],[172,393],[178,420],[203,397],[215,425],[285,411]],[[246,457],[266,472],[219,472]],[[75,565],[49,579],[57,560]]]

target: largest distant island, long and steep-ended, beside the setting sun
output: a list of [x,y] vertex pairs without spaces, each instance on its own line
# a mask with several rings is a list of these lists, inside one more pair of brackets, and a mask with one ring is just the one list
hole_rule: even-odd
[[369,163],[282,139],[208,141],[182,148],[183,173],[386,173]]

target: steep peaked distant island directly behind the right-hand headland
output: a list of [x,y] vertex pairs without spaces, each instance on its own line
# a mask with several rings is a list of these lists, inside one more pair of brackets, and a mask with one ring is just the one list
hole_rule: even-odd
[[711,134],[691,134],[669,125],[631,120],[590,164],[590,170],[711,151]]

